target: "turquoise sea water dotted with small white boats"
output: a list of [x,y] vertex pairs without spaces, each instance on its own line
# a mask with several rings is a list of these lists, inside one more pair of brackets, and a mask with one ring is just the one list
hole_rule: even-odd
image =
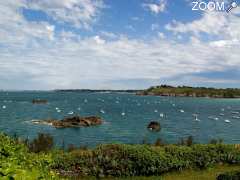
[[[37,98],[47,99],[49,103],[32,104],[32,99]],[[200,121],[196,121],[193,114],[198,114]],[[62,119],[73,115],[98,115],[104,119],[104,124],[55,129],[31,123],[33,119]],[[65,145],[87,146],[112,142],[141,143],[144,139],[154,142],[157,138],[175,143],[189,135],[200,143],[212,138],[221,138],[226,143],[240,143],[239,117],[240,99],[136,96],[127,93],[0,92],[0,131],[29,138],[39,132],[50,133],[58,145],[63,141]],[[162,130],[158,133],[146,129],[153,120],[161,123]]]

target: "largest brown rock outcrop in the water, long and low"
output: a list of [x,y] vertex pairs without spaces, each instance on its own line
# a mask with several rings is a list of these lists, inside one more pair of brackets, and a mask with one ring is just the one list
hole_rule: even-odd
[[90,117],[67,117],[63,120],[34,120],[32,121],[35,124],[46,124],[51,125],[55,128],[73,128],[73,127],[88,127],[96,126],[102,124],[102,119],[96,116]]

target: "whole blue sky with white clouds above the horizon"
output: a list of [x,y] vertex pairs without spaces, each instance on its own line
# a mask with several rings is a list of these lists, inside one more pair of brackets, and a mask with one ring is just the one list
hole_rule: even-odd
[[0,89],[240,88],[240,7],[193,1],[0,1]]

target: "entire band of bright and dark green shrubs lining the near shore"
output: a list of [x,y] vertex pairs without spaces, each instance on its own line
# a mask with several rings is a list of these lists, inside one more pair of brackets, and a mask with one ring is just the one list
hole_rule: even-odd
[[71,145],[66,151],[53,149],[50,135],[22,141],[1,134],[0,179],[145,177],[219,164],[240,165],[239,146],[216,140],[211,143],[194,144],[189,137],[176,145],[158,139],[152,145],[110,144],[94,149]]

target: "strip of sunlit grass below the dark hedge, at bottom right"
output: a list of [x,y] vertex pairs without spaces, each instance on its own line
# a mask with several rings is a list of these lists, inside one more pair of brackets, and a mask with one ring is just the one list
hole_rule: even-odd
[[[205,170],[184,170],[170,172],[162,176],[128,177],[128,178],[104,178],[103,180],[216,180],[220,173],[240,170],[239,165],[217,165]],[[81,178],[82,180],[94,180],[95,177]]]

